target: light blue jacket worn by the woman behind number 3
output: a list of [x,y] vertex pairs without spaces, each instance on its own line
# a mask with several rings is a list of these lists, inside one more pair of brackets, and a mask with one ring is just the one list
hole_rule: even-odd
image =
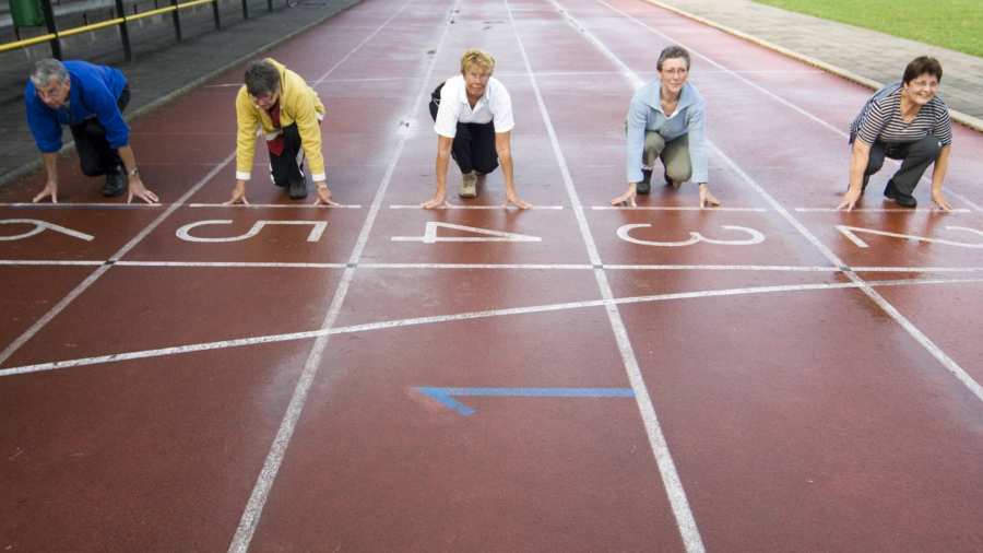
[[628,107],[627,145],[628,183],[642,180],[642,152],[646,131],[656,131],[666,142],[689,133],[689,162],[694,183],[707,181],[707,103],[690,83],[683,85],[676,110],[668,118],[662,111],[659,79],[646,84],[631,98]]

